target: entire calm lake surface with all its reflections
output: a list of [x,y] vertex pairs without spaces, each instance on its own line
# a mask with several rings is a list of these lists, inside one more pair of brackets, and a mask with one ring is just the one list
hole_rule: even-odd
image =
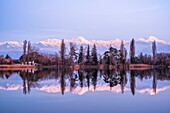
[[0,71],[0,113],[170,113],[170,70]]

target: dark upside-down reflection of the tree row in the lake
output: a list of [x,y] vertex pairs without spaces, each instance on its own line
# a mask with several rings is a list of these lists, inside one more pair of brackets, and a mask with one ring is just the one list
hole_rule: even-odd
[[[120,85],[121,92],[124,93],[125,85],[127,84],[127,77],[125,70],[100,70],[98,77],[98,70],[25,70],[25,71],[0,71],[0,78],[8,79],[13,73],[18,73],[23,80],[23,93],[31,92],[31,88],[38,87],[38,81],[46,79],[55,79],[60,81],[61,93],[64,95],[65,87],[68,79],[70,80],[70,92],[73,92],[78,85],[83,87],[90,86],[96,90],[97,80],[103,80],[110,88]],[[133,95],[135,95],[136,80],[135,78],[152,79],[153,92],[156,93],[157,80],[170,80],[170,69],[157,69],[157,70],[143,70],[143,71],[130,71],[130,88]],[[85,82],[86,81],[86,82]]]

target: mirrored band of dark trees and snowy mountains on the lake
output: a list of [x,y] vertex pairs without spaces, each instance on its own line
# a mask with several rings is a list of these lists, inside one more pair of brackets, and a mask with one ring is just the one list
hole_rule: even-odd
[[[17,80],[22,80],[22,86],[17,80],[10,80],[12,76],[19,76]],[[169,69],[0,71],[0,78],[1,90],[23,89],[23,94],[31,93],[32,88],[46,92],[61,92],[62,95],[65,92],[82,95],[87,91],[106,90],[122,94],[125,91],[131,91],[132,95],[135,95],[136,91],[141,94],[148,92],[156,94],[159,91],[170,89]],[[158,81],[161,82],[158,83]]]

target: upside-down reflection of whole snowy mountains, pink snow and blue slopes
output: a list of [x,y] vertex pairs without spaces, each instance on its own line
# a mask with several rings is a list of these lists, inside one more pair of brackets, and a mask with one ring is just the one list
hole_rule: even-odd
[[[154,95],[155,92],[152,88],[152,78],[140,81],[138,78],[136,80],[136,88],[135,92],[139,94],[149,94]],[[61,92],[61,83],[60,79],[40,79],[34,84],[34,88],[36,90],[48,92],[48,93],[59,93]],[[117,85],[114,87],[110,87],[109,84],[106,84],[103,81],[103,78],[98,78],[96,87],[94,88],[93,85],[89,87],[84,81],[83,87],[80,87],[80,83],[77,81],[74,87],[70,87],[70,80],[65,79],[65,90],[64,92],[71,92],[72,94],[83,95],[88,91],[110,91],[113,93],[121,93],[121,85]],[[126,91],[130,91],[130,83],[127,83],[124,87],[124,93]],[[33,87],[32,87],[33,88]],[[32,89],[31,88],[31,89]],[[23,89],[23,80],[18,75],[13,75],[8,79],[0,79],[0,90],[22,90]],[[170,90],[170,82],[169,81],[159,81],[156,88],[156,93]]]

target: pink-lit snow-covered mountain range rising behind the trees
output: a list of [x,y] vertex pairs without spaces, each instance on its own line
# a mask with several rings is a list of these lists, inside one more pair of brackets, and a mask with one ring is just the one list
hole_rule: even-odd
[[[135,39],[135,46],[136,46],[136,55],[140,52],[144,54],[151,54],[151,45],[153,41],[157,42],[157,51],[158,52],[168,52],[170,53],[170,42],[160,40],[154,36],[150,36],[148,38],[139,38]],[[129,51],[130,40],[123,40],[126,49]],[[96,44],[97,51],[99,54],[103,54],[104,51],[108,50],[111,46],[115,48],[120,48],[121,39],[114,39],[114,40],[87,40],[83,37],[77,37],[72,39],[65,39],[66,46],[69,47],[69,43],[75,43],[77,47],[77,51],[79,51],[79,46],[83,45],[87,47],[89,44],[93,46]],[[43,53],[56,53],[60,49],[61,40],[60,39],[47,39],[44,41],[39,42],[32,42],[33,46],[36,46],[40,49]],[[15,41],[7,41],[7,42],[0,42],[0,55],[9,54],[12,58],[17,59],[21,56],[23,51],[23,43],[22,42],[15,42]],[[69,49],[67,49],[69,51]]]

